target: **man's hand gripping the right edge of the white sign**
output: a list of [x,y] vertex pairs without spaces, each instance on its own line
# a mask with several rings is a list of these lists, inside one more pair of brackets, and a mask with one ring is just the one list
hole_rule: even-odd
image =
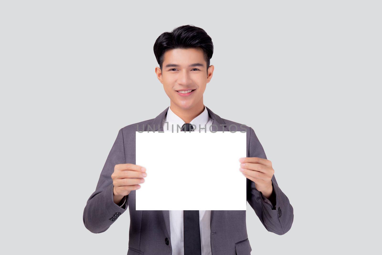
[[255,187],[264,197],[272,195],[272,176],[275,171],[272,162],[262,158],[241,158],[239,159],[240,171],[245,177],[255,183]]

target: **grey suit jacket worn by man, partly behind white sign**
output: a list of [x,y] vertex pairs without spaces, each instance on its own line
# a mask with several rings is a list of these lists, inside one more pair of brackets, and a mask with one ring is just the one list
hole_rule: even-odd
[[[120,207],[113,201],[111,178],[116,164],[135,164],[135,132],[163,131],[163,119],[167,114],[167,110],[168,107],[155,119],[134,123],[119,130],[117,139],[100,174],[95,192],[89,197],[84,208],[84,225],[93,233],[106,231],[127,210],[127,207],[129,208],[128,255],[172,254],[169,211],[135,210],[135,190],[129,193],[126,197],[126,204]],[[207,110],[213,120],[211,131],[233,132],[235,128],[230,125],[236,125],[238,131],[246,131],[246,156],[266,159],[264,149],[253,128],[222,119],[209,108]],[[238,162],[238,166],[239,164]],[[247,201],[265,229],[278,235],[285,234],[291,228],[293,222],[293,207],[286,195],[278,187],[275,176],[272,177],[276,197],[274,206],[269,201],[264,200],[261,192],[256,190],[253,181],[246,180]],[[224,190],[224,192],[229,192],[229,189]],[[211,211],[210,227],[213,255],[248,255],[251,253],[252,249],[246,229],[246,211]]]

